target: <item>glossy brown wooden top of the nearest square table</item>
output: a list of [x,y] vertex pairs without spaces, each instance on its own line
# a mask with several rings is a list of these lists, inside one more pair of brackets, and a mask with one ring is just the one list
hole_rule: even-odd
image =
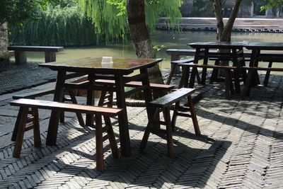
[[52,70],[64,70],[83,73],[98,74],[130,74],[136,69],[153,67],[162,59],[134,59],[134,58],[112,58],[112,63],[102,62],[100,58],[74,59],[65,62],[48,62],[38,64],[40,67],[49,67]]

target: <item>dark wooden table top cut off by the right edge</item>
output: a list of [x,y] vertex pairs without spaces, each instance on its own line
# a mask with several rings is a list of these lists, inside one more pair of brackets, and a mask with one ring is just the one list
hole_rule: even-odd
[[248,50],[283,50],[283,42],[248,42]]

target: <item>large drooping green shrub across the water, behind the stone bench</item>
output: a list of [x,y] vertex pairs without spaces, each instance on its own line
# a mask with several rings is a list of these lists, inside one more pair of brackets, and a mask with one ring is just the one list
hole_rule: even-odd
[[48,6],[40,19],[10,27],[10,42],[16,45],[92,45],[96,43],[93,25],[78,6]]

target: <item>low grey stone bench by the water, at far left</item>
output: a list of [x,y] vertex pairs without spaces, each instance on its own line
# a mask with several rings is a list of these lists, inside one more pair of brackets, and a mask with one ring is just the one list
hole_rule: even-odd
[[64,47],[52,47],[52,46],[10,46],[8,50],[15,51],[16,64],[23,64],[26,62],[26,51],[45,52],[45,62],[55,62],[56,52],[62,51]]

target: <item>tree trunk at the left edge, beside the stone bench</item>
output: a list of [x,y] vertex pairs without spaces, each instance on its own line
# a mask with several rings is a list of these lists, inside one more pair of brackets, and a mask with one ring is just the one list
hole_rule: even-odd
[[8,29],[7,23],[0,25],[0,67],[6,66],[9,62],[8,56]]

